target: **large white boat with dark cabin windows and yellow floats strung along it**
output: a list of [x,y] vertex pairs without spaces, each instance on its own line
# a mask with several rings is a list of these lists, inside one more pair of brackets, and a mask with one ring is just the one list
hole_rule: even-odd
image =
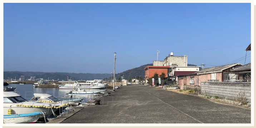
[[[27,101],[15,92],[4,91],[3,114],[25,114],[33,112],[46,112],[47,116],[63,107],[60,103]],[[11,113],[8,113],[12,109]]]

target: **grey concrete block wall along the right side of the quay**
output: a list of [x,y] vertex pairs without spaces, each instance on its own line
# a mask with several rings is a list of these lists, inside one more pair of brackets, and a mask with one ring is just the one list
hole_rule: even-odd
[[201,94],[235,99],[239,92],[251,102],[251,82],[201,82]]

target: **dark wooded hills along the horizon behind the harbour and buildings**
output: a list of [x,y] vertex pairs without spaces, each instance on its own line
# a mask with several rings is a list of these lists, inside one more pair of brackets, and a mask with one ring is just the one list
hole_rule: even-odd
[[[115,74],[116,79],[121,78],[121,76],[124,76],[125,80],[129,80],[130,78],[133,78],[135,76],[141,76],[144,79],[145,76],[145,70],[144,68],[146,66],[153,66],[153,64],[145,64],[142,66],[139,66],[137,68],[129,69],[126,71],[123,71],[122,73]],[[188,66],[197,66],[194,64],[188,64]],[[200,67],[201,70],[201,67]],[[21,75],[25,75],[27,79],[30,79],[30,76],[36,76],[36,78],[43,78],[44,80],[68,80],[68,78],[71,80],[94,80],[94,79],[102,79],[110,81],[111,80],[111,74],[93,74],[93,73],[49,73],[49,72],[33,72],[33,71],[4,71],[4,79],[9,80],[19,79]],[[112,74],[112,79],[114,78],[114,74]]]

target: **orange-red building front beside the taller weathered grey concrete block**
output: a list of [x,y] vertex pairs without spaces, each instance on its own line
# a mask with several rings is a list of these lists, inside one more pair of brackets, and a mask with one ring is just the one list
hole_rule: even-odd
[[151,78],[154,76],[154,73],[160,75],[162,72],[164,72],[164,74],[167,76],[168,68],[170,68],[170,66],[146,66],[146,68],[144,68],[145,79]]

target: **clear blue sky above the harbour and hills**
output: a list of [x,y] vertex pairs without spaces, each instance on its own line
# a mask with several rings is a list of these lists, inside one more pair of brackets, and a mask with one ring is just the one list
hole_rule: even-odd
[[[4,3],[4,71],[116,73],[168,54],[247,64],[250,3]],[[242,58],[244,57],[244,58]]]

